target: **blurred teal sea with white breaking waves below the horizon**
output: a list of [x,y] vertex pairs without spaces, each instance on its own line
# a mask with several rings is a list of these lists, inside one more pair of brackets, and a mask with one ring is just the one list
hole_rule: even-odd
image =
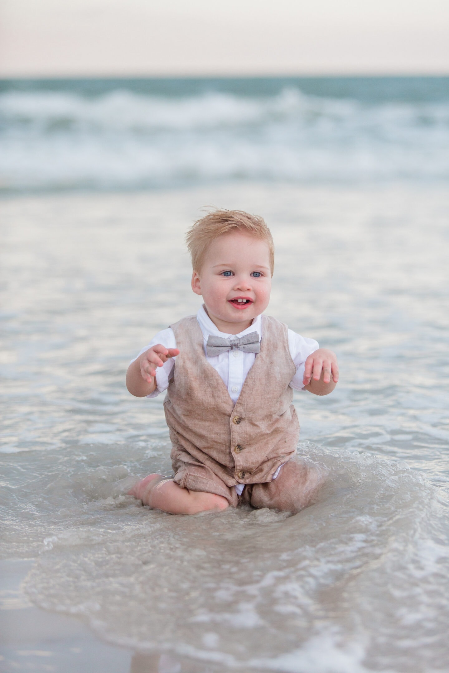
[[0,81],[0,189],[449,178],[449,77]]

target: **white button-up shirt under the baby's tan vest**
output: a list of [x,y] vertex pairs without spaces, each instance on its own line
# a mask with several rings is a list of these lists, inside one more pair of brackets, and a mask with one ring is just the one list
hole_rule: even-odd
[[[250,334],[250,332],[258,332],[259,341],[262,339],[262,316],[257,316],[252,321],[252,324],[239,332],[238,334],[226,334],[225,332],[219,332],[215,324],[209,318],[205,312],[204,306],[201,306],[199,312],[197,313],[198,324],[203,332],[203,341],[204,341],[204,351],[207,361],[212,365],[212,367],[218,372],[228,388],[228,392],[232,401],[235,403],[238,400],[240,391],[245,382],[248,371],[250,371],[252,365],[254,364],[254,359],[256,358],[256,353],[244,353],[238,349],[233,351],[226,351],[225,353],[220,353],[220,355],[215,355],[214,357],[209,357],[206,351],[206,343],[209,338],[209,334],[213,336],[223,336],[226,339],[229,339],[232,336],[244,336],[244,334]],[[176,339],[174,338],[174,332],[171,327],[168,327],[166,330],[161,330],[156,334],[156,336],[151,339],[149,344],[143,348],[139,355],[145,353],[151,346],[156,346],[156,344],[161,343],[166,348],[176,348]],[[293,376],[290,382],[291,388],[293,390],[304,390],[302,380],[304,378],[304,364],[306,359],[318,349],[318,343],[314,339],[307,339],[305,336],[300,336],[296,334],[293,330],[288,330],[288,345],[291,355],[291,359],[296,365],[296,374]],[[139,357],[137,355],[137,357]],[[137,358],[135,358],[137,359]],[[174,367],[174,361],[176,357],[172,357],[164,363],[163,367],[158,367],[156,369],[156,390],[147,395],[147,397],[156,397],[164,390],[168,388],[168,379],[172,373]]]

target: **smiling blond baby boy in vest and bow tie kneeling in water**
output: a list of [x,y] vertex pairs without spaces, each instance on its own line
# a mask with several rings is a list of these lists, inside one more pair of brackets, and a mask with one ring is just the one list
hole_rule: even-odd
[[187,234],[196,316],[156,334],[129,365],[137,397],[167,390],[173,478],[149,474],[131,494],[145,505],[193,514],[248,503],[297,512],[323,474],[298,458],[294,390],[326,395],[339,374],[332,351],[263,315],[274,265],[261,217],[219,210]]

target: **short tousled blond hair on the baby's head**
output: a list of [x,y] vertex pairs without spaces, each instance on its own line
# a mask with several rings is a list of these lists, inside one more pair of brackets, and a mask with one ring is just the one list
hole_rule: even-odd
[[245,213],[244,211],[228,211],[225,209],[207,213],[205,217],[198,219],[188,229],[186,243],[188,252],[191,254],[193,270],[199,271],[201,269],[207,248],[209,248],[209,245],[215,238],[233,231],[243,232],[267,242],[270,270],[271,275],[273,275],[275,246],[271,232],[263,217],[250,215],[250,213]]

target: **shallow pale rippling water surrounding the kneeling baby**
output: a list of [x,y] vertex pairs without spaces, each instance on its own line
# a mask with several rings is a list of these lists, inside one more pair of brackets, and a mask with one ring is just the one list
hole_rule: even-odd
[[[329,469],[296,516],[170,516],[125,495],[170,470],[162,399],[132,398],[124,376],[197,310],[182,235],[203,204],[265,215],[268,312],[341,361],[331,396],[296,394],[299,452]],[[447,670],[447,190],[250,184],[0,207],[0,551],[36,559],[30,600],[133,649],[133,671]]]

